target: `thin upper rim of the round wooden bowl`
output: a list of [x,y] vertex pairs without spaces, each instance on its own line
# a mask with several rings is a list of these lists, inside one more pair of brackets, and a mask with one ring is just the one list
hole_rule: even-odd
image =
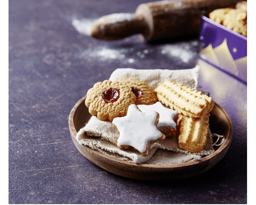
[[[70,134],[71,134],[71,137],[72,137],[72,140],[77,141],[76,139],[76,134],[78,133],[78,131],[76,131],[75,129],[75,125],[74,125],[74,115],[75,115],[75,112],[76,112],[76,109],[78,108],[79,105],[81,105],[81,103],[84,103],[86,99],[86,96],[82,97],[75,105],[74,107],[72,108],[72,110],[70,111],[70,114],[69,114],[69,131],[70,131]],[[133,162],[127,162],[125,160],[121,160],[121,159],[117,159],[115,157],[111,157],[111,156],[108,156],[100,151],[97,151],[97,150],[94,150],[92,148],[89,148],[88,146],[86,145],[83,145],[83,147],[86,149],[86,151],[88,152],[91,152],[93,154],[96,154],[100,157],[104,157],[112,162],[116,162],[116,163],[121,163],[121,164],[124,164],[124,165],[129,165],[129,166],[135,166],[135,167],[144,167],[144,168],[156,168],[156,169],[170,169],[170,168],[180,168],[180,167],[184,167],[184,166],[190,166],[190,165],[196,165],[198,163],[202,163],[204,161],[207,161],[209,159],[211,159],[212,157],[215,157],[216,155],[218,155],[221,151],[224,150],[224,148],[226,148],[228,145],[230,145],[230,142],[232,140],[232,135],[233,135],[233,126],[232,126],[232,122],[230,120],[230,117],[227,115],[226,111],[224,111],[223,108],[221,108],[220,105],[218,105],[217,103],[215,103],[214,105],[214,108],[217,107],[220,109],[220,111],[225,115],[225,117],[227,118],[227,121],[228,121],[228,132],[227,132],[227,136],[224,136],[225,137],[225,142],[216,150],[214,151],[212,154],[210,155],[207,155],[203,158],[201,158],[200,160],[195,160],[195,161],[192,161],[192,162],[185,162],[185,163],[181,163],[181,164],[176,164],[176,165],[150,165],[150,164],[136,164],[136,163],[133,163]],[[87,108],[88,109],[88,108]],[[79,143],[79,142],[78,142]],[[78,149],[79,150],[79,149]],[[80,151],[80,150],[79,150]],[[82,153],[83,154],[83,153]]]

